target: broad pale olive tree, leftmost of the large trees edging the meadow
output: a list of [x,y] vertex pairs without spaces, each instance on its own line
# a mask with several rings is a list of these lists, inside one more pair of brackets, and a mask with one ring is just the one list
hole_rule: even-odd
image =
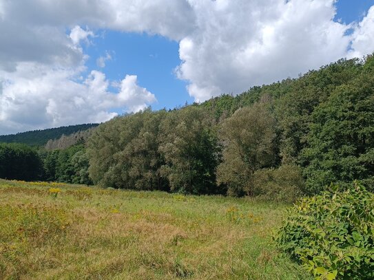
[[165,110],[147,109],[98,127],[87,149],[94,182],[123,189],[167,190],[158,151],[159,124],[165,114]]

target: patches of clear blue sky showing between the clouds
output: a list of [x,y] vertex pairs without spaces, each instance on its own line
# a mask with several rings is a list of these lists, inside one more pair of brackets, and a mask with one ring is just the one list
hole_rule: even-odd
[[[374,0],[339,0],[335,21],[361,21],[373,5]],[[100,36],[91,40],[92,44],[85,45],[85,52],[90,56],[88,69],[98,69],[96,58],[109,52],[112,60],[107,61],[101,71],[111,80],[120,80],[125,74],[138,75],[138,83],[157,96],[153,109],[169,109],[194,102],[187,92],[187,82],[178,79],[174,71],[180,64],[178,42],[145,32],[99,30],[98,34]]]

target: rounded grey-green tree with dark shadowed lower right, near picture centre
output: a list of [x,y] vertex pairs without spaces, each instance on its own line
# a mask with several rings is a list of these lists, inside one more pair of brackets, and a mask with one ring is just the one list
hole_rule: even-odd
[[218,138],[212,122],[200,107],[172,111],[161,124],[161,172],[172,191],[220,193],[216,168],[220,161]]

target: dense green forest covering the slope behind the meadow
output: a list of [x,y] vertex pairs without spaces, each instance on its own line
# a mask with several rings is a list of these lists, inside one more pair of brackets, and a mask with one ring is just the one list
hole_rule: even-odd
[[279,201],[354,180],[373,191],[373,91],[374,56],[342,59],[238,96],[149,108],[49,141],[53,130],[31,141],[34,132],[23,142],[38,147],[0,145],[0,177]]

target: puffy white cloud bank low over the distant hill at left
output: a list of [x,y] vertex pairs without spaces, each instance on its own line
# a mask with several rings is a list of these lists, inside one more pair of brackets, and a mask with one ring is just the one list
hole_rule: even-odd
[[77,82],[81,70],[21,63],[15,72],[0,72],[0,134],[104,122],[118,115],[115,109],[139,111],[156,101],[136,76],[125,76],[121,89],[112,92],[102,72],[92,71]]

